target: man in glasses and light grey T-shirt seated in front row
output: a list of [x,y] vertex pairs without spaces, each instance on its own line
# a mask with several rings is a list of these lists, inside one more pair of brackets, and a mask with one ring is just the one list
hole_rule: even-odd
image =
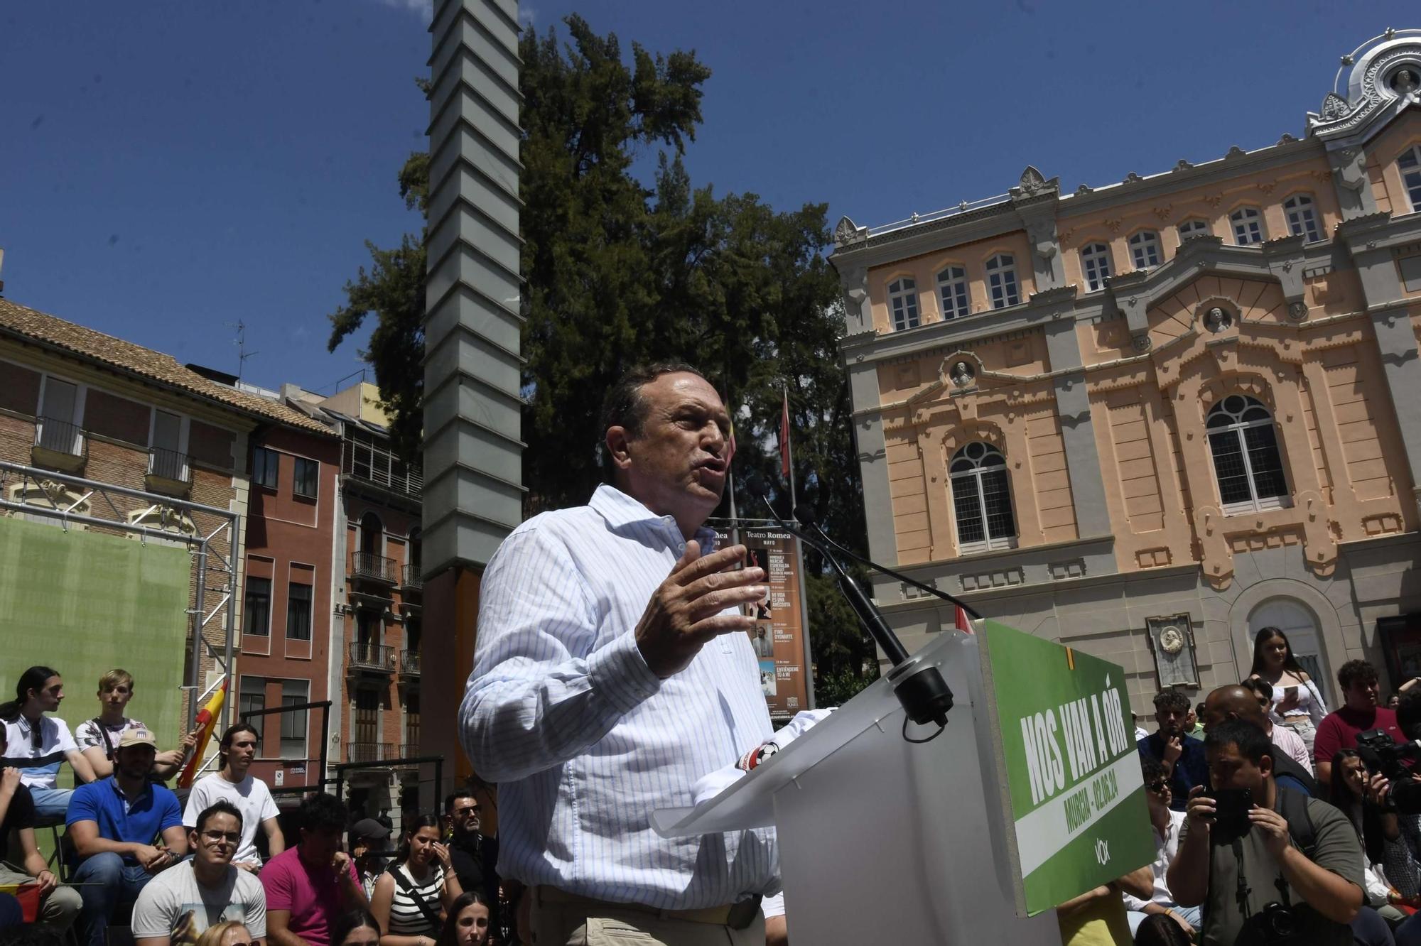
[[196,946],[209,928],[237,920],[252,933],[246,942],[260,943],[266,937],[266,893],[261,881],[232,865],[240,842],[236,805],[207,805],[188,834],[193,858],[153,878],[138,895],[134,939],[141,946]]

